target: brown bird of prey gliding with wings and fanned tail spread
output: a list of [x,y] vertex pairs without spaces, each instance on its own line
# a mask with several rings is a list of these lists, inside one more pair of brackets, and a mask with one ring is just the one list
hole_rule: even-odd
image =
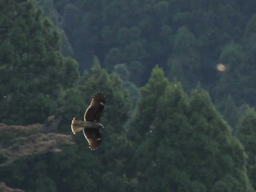
[[92,97],[91,104],[84,114],[84,121],[73,118],[71,123],[73,134],[83,130],[83,134],[91,150],[97,149],[102,142],[102,135],[99,133],[99,129],[104,127],[99,123],[99,118],[104,110],[104,106],[104,94],[97,93]]

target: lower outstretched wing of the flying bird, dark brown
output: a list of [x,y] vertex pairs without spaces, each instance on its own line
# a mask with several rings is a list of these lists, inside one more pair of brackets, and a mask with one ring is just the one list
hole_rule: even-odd
[[97,149],[102,142],[102,135],[99,133],[97,128],[85,128],[83,134],[89,144],[91,150]]

